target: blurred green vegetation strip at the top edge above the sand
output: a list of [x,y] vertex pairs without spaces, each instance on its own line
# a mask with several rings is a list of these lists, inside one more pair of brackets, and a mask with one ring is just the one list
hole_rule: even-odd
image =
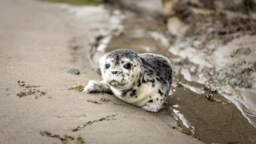
[[49,2],[67,3],[73,5],[99,5],[98,0],[41,0]]

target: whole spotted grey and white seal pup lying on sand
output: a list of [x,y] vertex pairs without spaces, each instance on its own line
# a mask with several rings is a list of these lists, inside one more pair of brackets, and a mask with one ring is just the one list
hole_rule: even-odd
[[117,49],[99,60],[102,81],[90,80],[84,92],[112,92],[146,111],[164,108],[172,84],[172,63],[162,55]]

